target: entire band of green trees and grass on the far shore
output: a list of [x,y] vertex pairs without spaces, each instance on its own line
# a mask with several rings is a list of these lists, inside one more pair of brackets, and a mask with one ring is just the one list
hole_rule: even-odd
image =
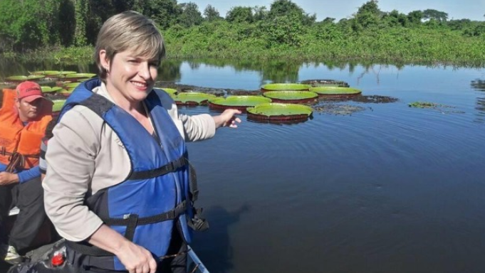
[[90,58],[103,22],[126,10],[157,23],[169,57],[485,60],[484,21],[449,20],[434,9],[383,12],[375,0],[338,22],[317,21],[290,0],[269,9],[234,6],[225,17],[213,6],[201,12],[177,0],[1,0],[0,52]]

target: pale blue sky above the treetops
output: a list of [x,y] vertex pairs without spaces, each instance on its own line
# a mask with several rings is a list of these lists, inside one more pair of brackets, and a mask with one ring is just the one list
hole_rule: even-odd
[[[330,17],[339,21],[355,14],[367,0],[291,0],[300,6],[307,14],[316,14],[317,21]],[[219,14],[226,16],[233,6],[266,6],[269,9],[273,0],[179,0],[177,3],[193,2],[199,6],[202,13],[207,5],[213,6]],[[381,11],[397,10],[402,14],[410,11],[436,9],[448,14],[449,20],[470,19],[485,21],[485,0],[379,0],[377,5]]]

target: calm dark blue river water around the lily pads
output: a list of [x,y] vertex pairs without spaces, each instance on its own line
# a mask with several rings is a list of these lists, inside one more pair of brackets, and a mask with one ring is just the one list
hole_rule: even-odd
[[[211,272],[485,272],[484,70],[266,68],[179,61],[160,72],[221,89],[344,80],[398,101],[339,102],[364,110],[291,125],[242,115],[238,129],[189,144],[211,225],[192,246]],[[444,106],[408,107],[416,101]]]

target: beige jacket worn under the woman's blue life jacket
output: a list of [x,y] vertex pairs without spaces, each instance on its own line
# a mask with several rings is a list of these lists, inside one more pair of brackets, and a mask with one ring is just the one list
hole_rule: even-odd
[[[113,102],[104,84],[93,92]],[[178,114],[171,99],[162,101],[162,105],[186,141],[214,137],[216,125],[209,114]],[[67,240],[87,239],[103,222],[83,205],[85,194],[94,194],[127,178],[131,168],[127,151],[98,114],[76,105],[53,129],[46,161],[42,184],[48,217]]]

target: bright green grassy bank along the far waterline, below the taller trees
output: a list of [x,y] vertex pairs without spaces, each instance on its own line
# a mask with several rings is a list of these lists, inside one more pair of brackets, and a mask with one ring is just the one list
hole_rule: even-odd
[[[168,58],[246,58],[283,60],[376,60],[398,63],[485,65],[485,38],[447,29],[387,28],[358,35],[331,28],[308,28],[296,44],[272,43],[250,24],[231,28],[224,21],[164,31]],[[44,48],[4,53],[4,58],[62,63],[93,60],[93,47]]]

